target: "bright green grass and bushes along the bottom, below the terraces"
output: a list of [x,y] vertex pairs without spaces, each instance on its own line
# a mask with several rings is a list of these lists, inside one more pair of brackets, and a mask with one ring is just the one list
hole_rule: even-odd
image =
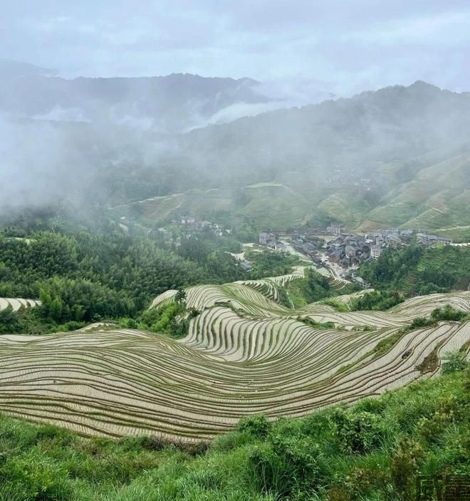
[[210,445],[1,417],[0,500],[409,501],[418,474],[470,473],[470,369],[454,353],[443,372],[351,408],[244,418]]

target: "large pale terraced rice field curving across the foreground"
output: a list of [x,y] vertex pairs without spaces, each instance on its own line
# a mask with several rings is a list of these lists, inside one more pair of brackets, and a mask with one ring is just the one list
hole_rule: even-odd
[[[269,294],[243,283],[187,289],[188,306],[201,313],[181,340],[99,327],[0,336],[0,411],[84,435],[208,440],[244,415],[305,415],[431,377],[439,363],[422,373],[425,358],[470,340],[470,322],[442,323],[406,332],[381,356],[374,351],[436,306],[470,311],[470,292],[350,313],[321,303],[290,310]],[[315,329],[298,317],[373,328]]]

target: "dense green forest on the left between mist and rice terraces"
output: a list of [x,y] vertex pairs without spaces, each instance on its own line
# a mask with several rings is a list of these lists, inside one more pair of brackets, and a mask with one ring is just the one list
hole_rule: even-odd
[[2,312],[0,332],[42,334],[84,321],[137,319],[167,289],[246,277],[230,254],[198,239],[184,239],[178,255],[150,238],[117,232],[11,234],[15,229],[0,234],[0,297],[41,299],[43,305]]

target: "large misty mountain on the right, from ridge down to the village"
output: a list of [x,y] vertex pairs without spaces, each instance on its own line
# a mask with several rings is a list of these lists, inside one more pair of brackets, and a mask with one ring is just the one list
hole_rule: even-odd
[[417,82],[194,130],[165,162],[198,172],[198,190],[174,180],[173,195],[142,197],[139,217],[231,212],[258,227],[338,221],[364,232],[424,227],[463,237],[469,110],[468,93]]

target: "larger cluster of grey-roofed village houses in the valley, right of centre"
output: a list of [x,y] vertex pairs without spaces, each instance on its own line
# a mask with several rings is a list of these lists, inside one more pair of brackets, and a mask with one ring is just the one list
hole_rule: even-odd
[[[330,224],[326,233],[333,236],[327,239],[325,229],[308,228],[293,229],[291,239],[294,247],[307,254],[316,264],[323,264],[325,258],[331,263],[345,269],[360,266],[370,259],[378,259],[386,247],[398,249],[416,241],[424,246],[434,244],[451,244],[452,239],[429,234],[426,229],[384,229],[370,234],[352,234],[345,231],[340,224]],[[283,250],[283,244],[276,241],[275,234],[263,232],[259,234],[259,244],[277,250]]]

